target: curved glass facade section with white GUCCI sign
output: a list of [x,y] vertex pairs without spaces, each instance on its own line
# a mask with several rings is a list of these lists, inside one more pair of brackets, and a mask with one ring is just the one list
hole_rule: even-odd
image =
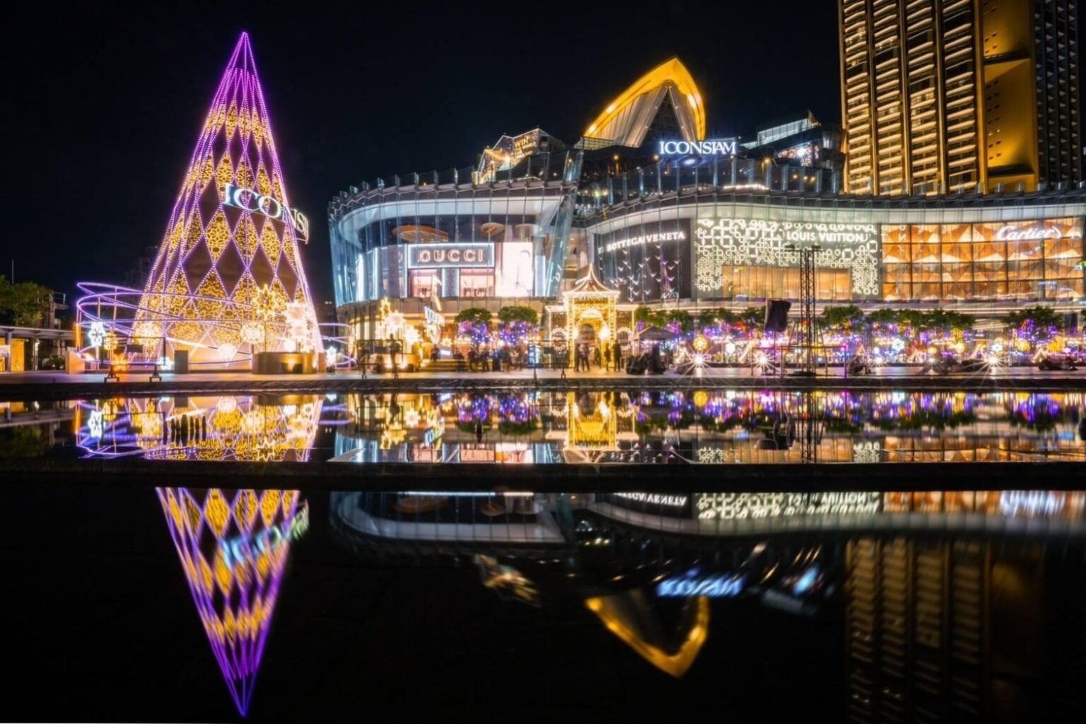
[[[579,175],[579,156],[563,157],[555,170],[547,170],[554,163],[541,166],[541,178],[459,183],[470,172],[414,176],[333,200],[337,306],[556,296]],[[543,178],[548,173],[553,180]]]

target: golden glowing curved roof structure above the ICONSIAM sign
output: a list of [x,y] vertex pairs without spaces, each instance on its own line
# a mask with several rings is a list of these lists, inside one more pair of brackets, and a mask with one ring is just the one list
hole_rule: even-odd
[[601,113],[585,138],[608,141],[608,145],[637,148],[660,110],[665,97],[671,98],[684,141],[705,139],[705,106],[693,76],[678,58],[660,63],[637,78]]

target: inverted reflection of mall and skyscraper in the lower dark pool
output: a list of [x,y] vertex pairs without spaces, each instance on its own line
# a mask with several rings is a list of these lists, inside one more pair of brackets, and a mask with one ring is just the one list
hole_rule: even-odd
[[[1081,567],[1084,500],[1048,491],[342,492],[329,522],[363,557],[452,563],[466,586],[476,568],[509,605],[567,622],[580,609],[675,677],[705,646],[730,645],[708,634],[748,615],[742,607],[818,617],[848,636],[848,721],[986,721],[994,707],[1059,688],[1046,676],[1062,686],[1075,674],[1063,668],[1073,662],[1040,658],[1059,633],[1039,622],[1066,580],[1049,568]],[[1046,550],[1046,536],[1065,544]],[[1016,628],[1020,619],[1028,624]],[[1066,610],[1059,619],[1081,621]]]

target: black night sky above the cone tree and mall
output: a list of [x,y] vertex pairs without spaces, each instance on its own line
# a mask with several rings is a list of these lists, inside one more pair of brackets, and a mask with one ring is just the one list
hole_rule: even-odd
[[288,194],[313,226],[303,254],[318,303],[332,299],[326,212],[340,190],[473,165],[503,132],[541,126],[573,142],[671,55],[702,89],[710,136],[805,109],[841,117],[834,0],[149,5],[36,3],[10,18],[0,274],[14,258],[17,281],[70,294],[77,280],[124,281],[161,241],[243,29]]

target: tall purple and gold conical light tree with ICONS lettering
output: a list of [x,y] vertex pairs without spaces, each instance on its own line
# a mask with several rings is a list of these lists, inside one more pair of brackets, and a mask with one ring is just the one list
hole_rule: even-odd
[[132,326],[193,363],[318,351],[293,209],[249,35],[241,34],[197,141]]

